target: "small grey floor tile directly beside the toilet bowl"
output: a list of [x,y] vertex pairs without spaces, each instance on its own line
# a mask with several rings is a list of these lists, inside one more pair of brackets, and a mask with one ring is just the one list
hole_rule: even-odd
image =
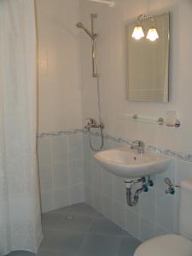
[[119,246],[118,256],[133,256],[136,248],[141,244],[141,241],[138,241],[135,238],[122,237]]

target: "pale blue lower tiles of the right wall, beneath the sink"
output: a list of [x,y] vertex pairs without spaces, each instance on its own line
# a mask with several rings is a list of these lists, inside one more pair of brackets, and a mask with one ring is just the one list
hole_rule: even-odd
[[[99,139],[95,137],[96,143]],[[120,146],[120,143],[105,140],[105,148]],[[129,207],[125,201],[124,179],[103,170],[93,155],[88,137],[84,135],[86,202],[142,241],[166,233],[177,233],[179,189],[176,189],[175,195],[166,195],[164,177],[170,177],[172,183],[192,177],[192,163],[173,158],[166,172],[152,177],[154,187],[140,195],[137,206]]]

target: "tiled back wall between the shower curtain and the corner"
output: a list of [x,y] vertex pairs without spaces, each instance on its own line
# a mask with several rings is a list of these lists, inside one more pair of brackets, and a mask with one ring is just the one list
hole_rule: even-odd
[[[82,127],[79,0],[38,0],[38,133]],[[84,200],[81,134],[38,138],[42,210]]]

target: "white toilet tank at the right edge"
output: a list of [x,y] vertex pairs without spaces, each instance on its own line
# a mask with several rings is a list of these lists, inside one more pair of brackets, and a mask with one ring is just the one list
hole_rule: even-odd
[[181,182],[179,233],[192,240],[192,178]]

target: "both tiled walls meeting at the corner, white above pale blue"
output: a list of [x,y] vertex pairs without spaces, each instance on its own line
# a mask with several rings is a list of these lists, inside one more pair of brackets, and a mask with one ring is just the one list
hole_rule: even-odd
[[[97,119],[90,38],[75,27],[79,20],[90,26],[90,13],[97,13],[96,32],[101,35],[97,49],[105,132],[131,140],[142,139],[159,148],[192,153],[192,116],[189,114],[192,51],[189,26],[186,26],[191,24],[190,1],[119,0],[114,9],[89,1],[57,0],[55,4],[52,0],[39,0],[37,3],[40,132],[81,127],[81,108],[83,119],[90,116]],[[171,11],[170,102],[128,102],[125,99],[125,23],[142,13],[156,14],[165,10]],[[82,55],[81,75],[79,52]],[[124,113],[164,117],[167,109],[177,110],[181,128],[121,119]],[[98,137],[94,141],[98,143]],[[106,140],[105,148],[115,146],[116,143]],[[43,212],[85,200],[139,239],[177,231],[179,195],[164,193],[163,177],[172,177],[173,183],[183,177],[192,177],[191,163],[173,160],[167,172],[154,177],[154,188],[141,195],[137,207],[127,207],[123,180],[96,164],[87,135],[84,139],[81,133],[39,137],[38,155]]]

